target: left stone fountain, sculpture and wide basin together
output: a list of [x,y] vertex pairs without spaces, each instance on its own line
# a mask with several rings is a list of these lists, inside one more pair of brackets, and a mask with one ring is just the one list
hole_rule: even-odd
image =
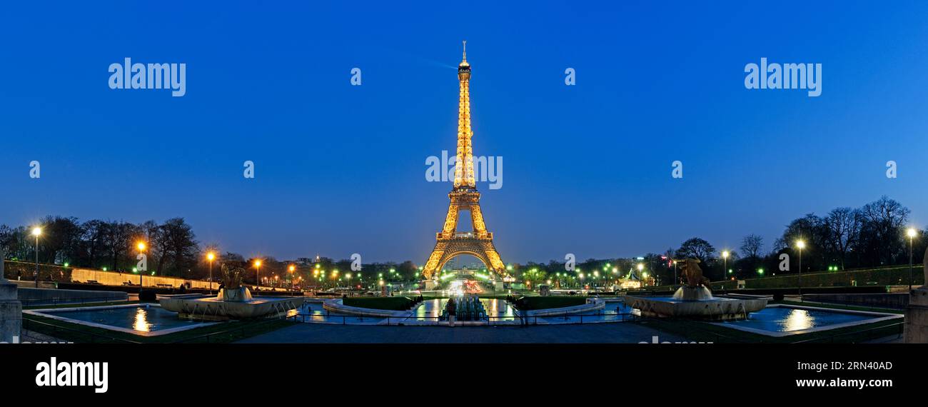
[[225,321],[284,315],[303,305],[303,298],[253,298],[241,284],[245,269],[222,265],[223,286],[214,297],[175,295],[159,300],[162,309],[177,312],[180,318],[199,321]]

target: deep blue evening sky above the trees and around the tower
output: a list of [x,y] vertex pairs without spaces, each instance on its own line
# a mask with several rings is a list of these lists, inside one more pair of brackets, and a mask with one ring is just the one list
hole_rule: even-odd
[[[504,261],[769,248],[883,194],[928,223],[924,2],[22,3],[0,17],[0,223],[185,217],[246,256],[424,262],[462,39],[475,153],[504,160],[501,190],[478,184]],[[126,57],[187,63],[187,95],[111,90]],[[822,63],[822,95],[745,89],[762,57]]]

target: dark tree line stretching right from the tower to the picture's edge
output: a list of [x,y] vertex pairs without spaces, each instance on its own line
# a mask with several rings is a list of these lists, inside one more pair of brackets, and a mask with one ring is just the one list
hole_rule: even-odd
[[[537,284],[557,280],[575,286],[608,284],[637,272],[640,264],[643,272],[638,274],[647,272],[655,283],[670,284],[682,280],[673,259],[689,257],[699,259],[703,274],[713,281],[756,278],[798,272],[798,241],[805,243],[803,272],[908,265],[906,231],[910,213],[906,206],[883,196],[858,208],[838,207],[822,216],[807,214],[793,219],[769,244],[754,233],[741,238],[738,247],[730,248],[717,248],[702,238],[693,237],[677,248],[639,258],[590,258],[574,265],[574,272],[565,272],[565,263],[558,260],[547,264],[529,262],[514,265],[513,269],[520,281]],[[913,262],[921,264],[928,244],[928,230],[916,230],[917,237],[912,239]],[[727,259],[722,256],[725,252]],[[787,256],[782,256],[784,254]],[[786,267],[780,269],[781,266]],[[581,273],[585,282],[577,280]]]

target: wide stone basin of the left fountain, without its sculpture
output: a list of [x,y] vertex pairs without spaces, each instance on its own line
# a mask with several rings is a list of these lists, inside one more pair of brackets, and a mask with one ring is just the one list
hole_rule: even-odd
[[178,317],[201,321],[248,320],[277,315],[297,309],[305,299],[300,296],[257,297],[247,301],[223,301],[216,297],[161,298],[162,309],[177,312]]

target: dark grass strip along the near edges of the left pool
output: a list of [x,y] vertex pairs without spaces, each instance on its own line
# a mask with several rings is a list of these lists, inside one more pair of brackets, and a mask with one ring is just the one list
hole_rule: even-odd
[[[58,339],[74,343],[172,343],[179,341],[184,341],[185,343],[228,343],[275,331],[294,323],[289,320],[224,322],[201,328],[189,329],[174,334],[140,336],[53,320],[36,315],[23,314],[22,319],[23,329],[51,335]],[[208,334],[215,335],[211,335],[209,338],[201,337],[202,335]]]

